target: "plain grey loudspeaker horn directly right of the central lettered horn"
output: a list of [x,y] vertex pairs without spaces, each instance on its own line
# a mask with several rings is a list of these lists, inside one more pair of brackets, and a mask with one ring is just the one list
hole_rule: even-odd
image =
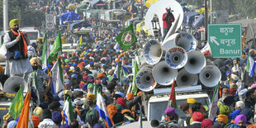
[[200,51],[193,50],[187,54],[187,64],[185,69],[189,73],[200,73],[201,69],[206,66],[206,58]]

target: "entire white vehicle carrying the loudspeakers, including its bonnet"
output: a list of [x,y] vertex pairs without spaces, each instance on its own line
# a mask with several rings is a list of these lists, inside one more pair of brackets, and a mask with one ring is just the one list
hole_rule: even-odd
[[[161,117],[164,114],[165,109],[168,107],[169,93],[171,88],[154,88],[152,92],[146,92],[146,98],[144,98],[145,106],[145,118],[142,118],[142,126],[144,127],[161,127],[164,125],[182,127],[180,124],[175,124],[173,121],[161,121]],[[203,107],[210,108],[211,100],[207,92],[203,91],[201,85],[197,86],[184,86],[184,87],[175,87],[176,94],[176,104],[177,108],[175,112],[178,114],[180,119],[184,119],[184,124],[186,125],[186,115],[179,108],[183,103],[187,102],[187,98],[191,97],[200,102]],[[157,121],[157,123],[156,123]],[[155,126],[158,124],[158,126]],[[118,128],[129,128],[139,126],[140,122],[122,122],[121,125],[115,125],[114,127]]]

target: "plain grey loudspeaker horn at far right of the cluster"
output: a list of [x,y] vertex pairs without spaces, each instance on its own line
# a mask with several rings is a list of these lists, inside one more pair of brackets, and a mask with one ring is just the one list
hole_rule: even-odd
[[221,78],[220,69],[216,65],[206,65],[199,73],[199,79],[206,87],[214,87]]

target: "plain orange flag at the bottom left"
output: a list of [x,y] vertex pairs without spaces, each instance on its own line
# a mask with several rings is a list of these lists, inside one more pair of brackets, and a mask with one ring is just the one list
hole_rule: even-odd
[[20,119],[17,123],[19,128],[28,128],[28,120],[30,114],[30,102],[31,102],[31,92],[26,92],[26,97],[23,103],[23,107],[21,110]]

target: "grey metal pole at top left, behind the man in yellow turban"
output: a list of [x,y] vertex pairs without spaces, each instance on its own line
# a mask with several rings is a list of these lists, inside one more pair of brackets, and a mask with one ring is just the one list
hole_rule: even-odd
[[3,31],[8,31],[8,0],[2,1]]

